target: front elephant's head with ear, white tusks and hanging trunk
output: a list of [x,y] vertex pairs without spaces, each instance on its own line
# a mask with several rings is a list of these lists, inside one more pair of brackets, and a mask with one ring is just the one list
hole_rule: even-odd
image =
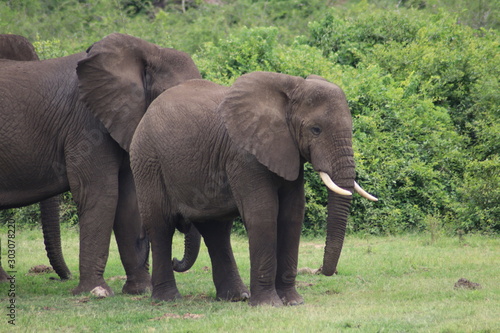
[[330,189],[323,273],[335,272],[352,192],[376,200],[354,181],[352,119],[343,91],[319,76],[243,75],[219,107],[231,139],[293,181],[310,162]]

